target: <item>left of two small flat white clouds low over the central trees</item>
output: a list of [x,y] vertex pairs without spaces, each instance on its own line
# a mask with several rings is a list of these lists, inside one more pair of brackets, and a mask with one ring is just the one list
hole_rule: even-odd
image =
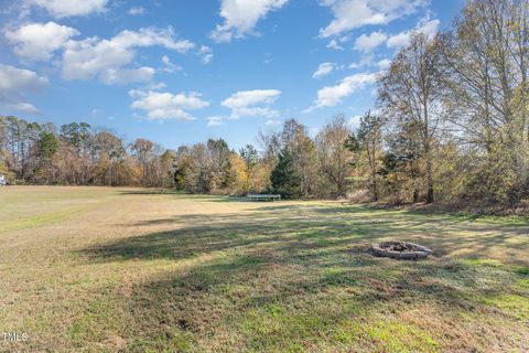
[[202,100],[198,93],[172,94],[169,92],[153,90],[129,90],[129,95],[134,99],[131,107],[147,113],[150,120],[194,120],[187,110],[196,110],[207,107],[208,101]]

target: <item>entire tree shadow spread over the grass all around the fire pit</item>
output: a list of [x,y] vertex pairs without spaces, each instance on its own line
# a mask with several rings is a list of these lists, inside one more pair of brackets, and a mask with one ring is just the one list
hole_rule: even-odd
[[[462,263],[451,255],[461,248],[467,249],[466,258],[478,259],[490,248],[527,252],[527,242],[510,242],[520,238],[519,228],[358,206],[321,210],[281,205],[240,214],[152,220],[136,225],[180,226],[100,244],[83,249],[82,255],[95,263],[196,259],[185,270],[132,285],[121,300],[132,318],[127,336],[130,351],[181,345],[203,351],[285,351],[295,343],[314,349],[333,342],[352,320],[369,327],[374,313],[400,318],[395,308],[424,304],[442,314],[425,313],[423,320],[439,320],[445,327],[460,312],[514,320],[509,311],[498,313],[483,302],[519,295],[514,286],[528,276],[519,253],[511,255],[518,261],[516,270],[507,265]],[[402,263],[368,254],[370,243],[388,238],[419,242],[438,256]],[[475,325],[490,330],[485,321]],[[355,330],[360,331],[350,334],[361,339],[364,329]],[[492,340],[504,340],[509,346],[503,333]],[[476,342],[462,341],[455,349],[468,351]]]

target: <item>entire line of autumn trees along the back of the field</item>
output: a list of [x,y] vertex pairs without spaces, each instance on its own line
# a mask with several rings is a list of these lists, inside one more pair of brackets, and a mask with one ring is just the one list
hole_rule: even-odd
[[0,119],[0,173],[19,182],[143,185],[515,205],[529,196],[529,1],[471,0],[434,38],[413,33],[378,77],[356,128],[315,137],[295,119],[235,151],[223,139],[166,150],[89,125]]

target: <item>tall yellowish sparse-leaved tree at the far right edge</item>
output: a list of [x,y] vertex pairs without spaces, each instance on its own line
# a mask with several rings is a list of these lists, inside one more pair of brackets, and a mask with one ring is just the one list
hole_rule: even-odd
[[471,0],[442,36],[454,136],[478,161],[469,189],[490,201],[529,194],[529,1]]

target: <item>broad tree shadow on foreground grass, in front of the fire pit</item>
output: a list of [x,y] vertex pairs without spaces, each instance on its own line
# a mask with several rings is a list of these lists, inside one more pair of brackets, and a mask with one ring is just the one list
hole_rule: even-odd
[[[433,323],[420,330],[440,338],[460,333],[440,330],[462,313],[467,318],[515,320],[510,312],[498,313],[483,300],[509,292],[523,278],[509,270],[476,274],[475,266],[457,261],[397,263],[338,252],[328,252],[323,261],[268,255],[256,250],[223,257],[184,274],[165,274],[134,285],[127,304],[134,318],[130,346],[137,351],[152,349],[149,339],[162,334],[163,343],[156,341],[156,347],[162,344],[169,350],[181,340],[198,351],[214,346],[225,351],[285,351],[295,344],[309,350],[338,343],[335,333],[347,330],[352,322],[361,322],[359,331],[349,334],[363,340],[361,330],[373,330],[374,318],[390,318],[391,323],[403,320],[399,312],[424,306],[438,310],[440,317],[421,313],[425,327],[430,320]],[[484,281],[494,285],[484,286]],[[414,328],[413,320],[402,324]],[[463,330],[468,334],[493,332],[488,333],[490,343],[500,341],[509,346],[503,330],[522,330],[515,321],[509,322],[514,322],[512,328],[499,329],[483,320],[474,322],[476,331]],[[395,334],[404,340],[399,334],[408,333]],[[460,341],[452,347],[469,351],[479,340]]]

